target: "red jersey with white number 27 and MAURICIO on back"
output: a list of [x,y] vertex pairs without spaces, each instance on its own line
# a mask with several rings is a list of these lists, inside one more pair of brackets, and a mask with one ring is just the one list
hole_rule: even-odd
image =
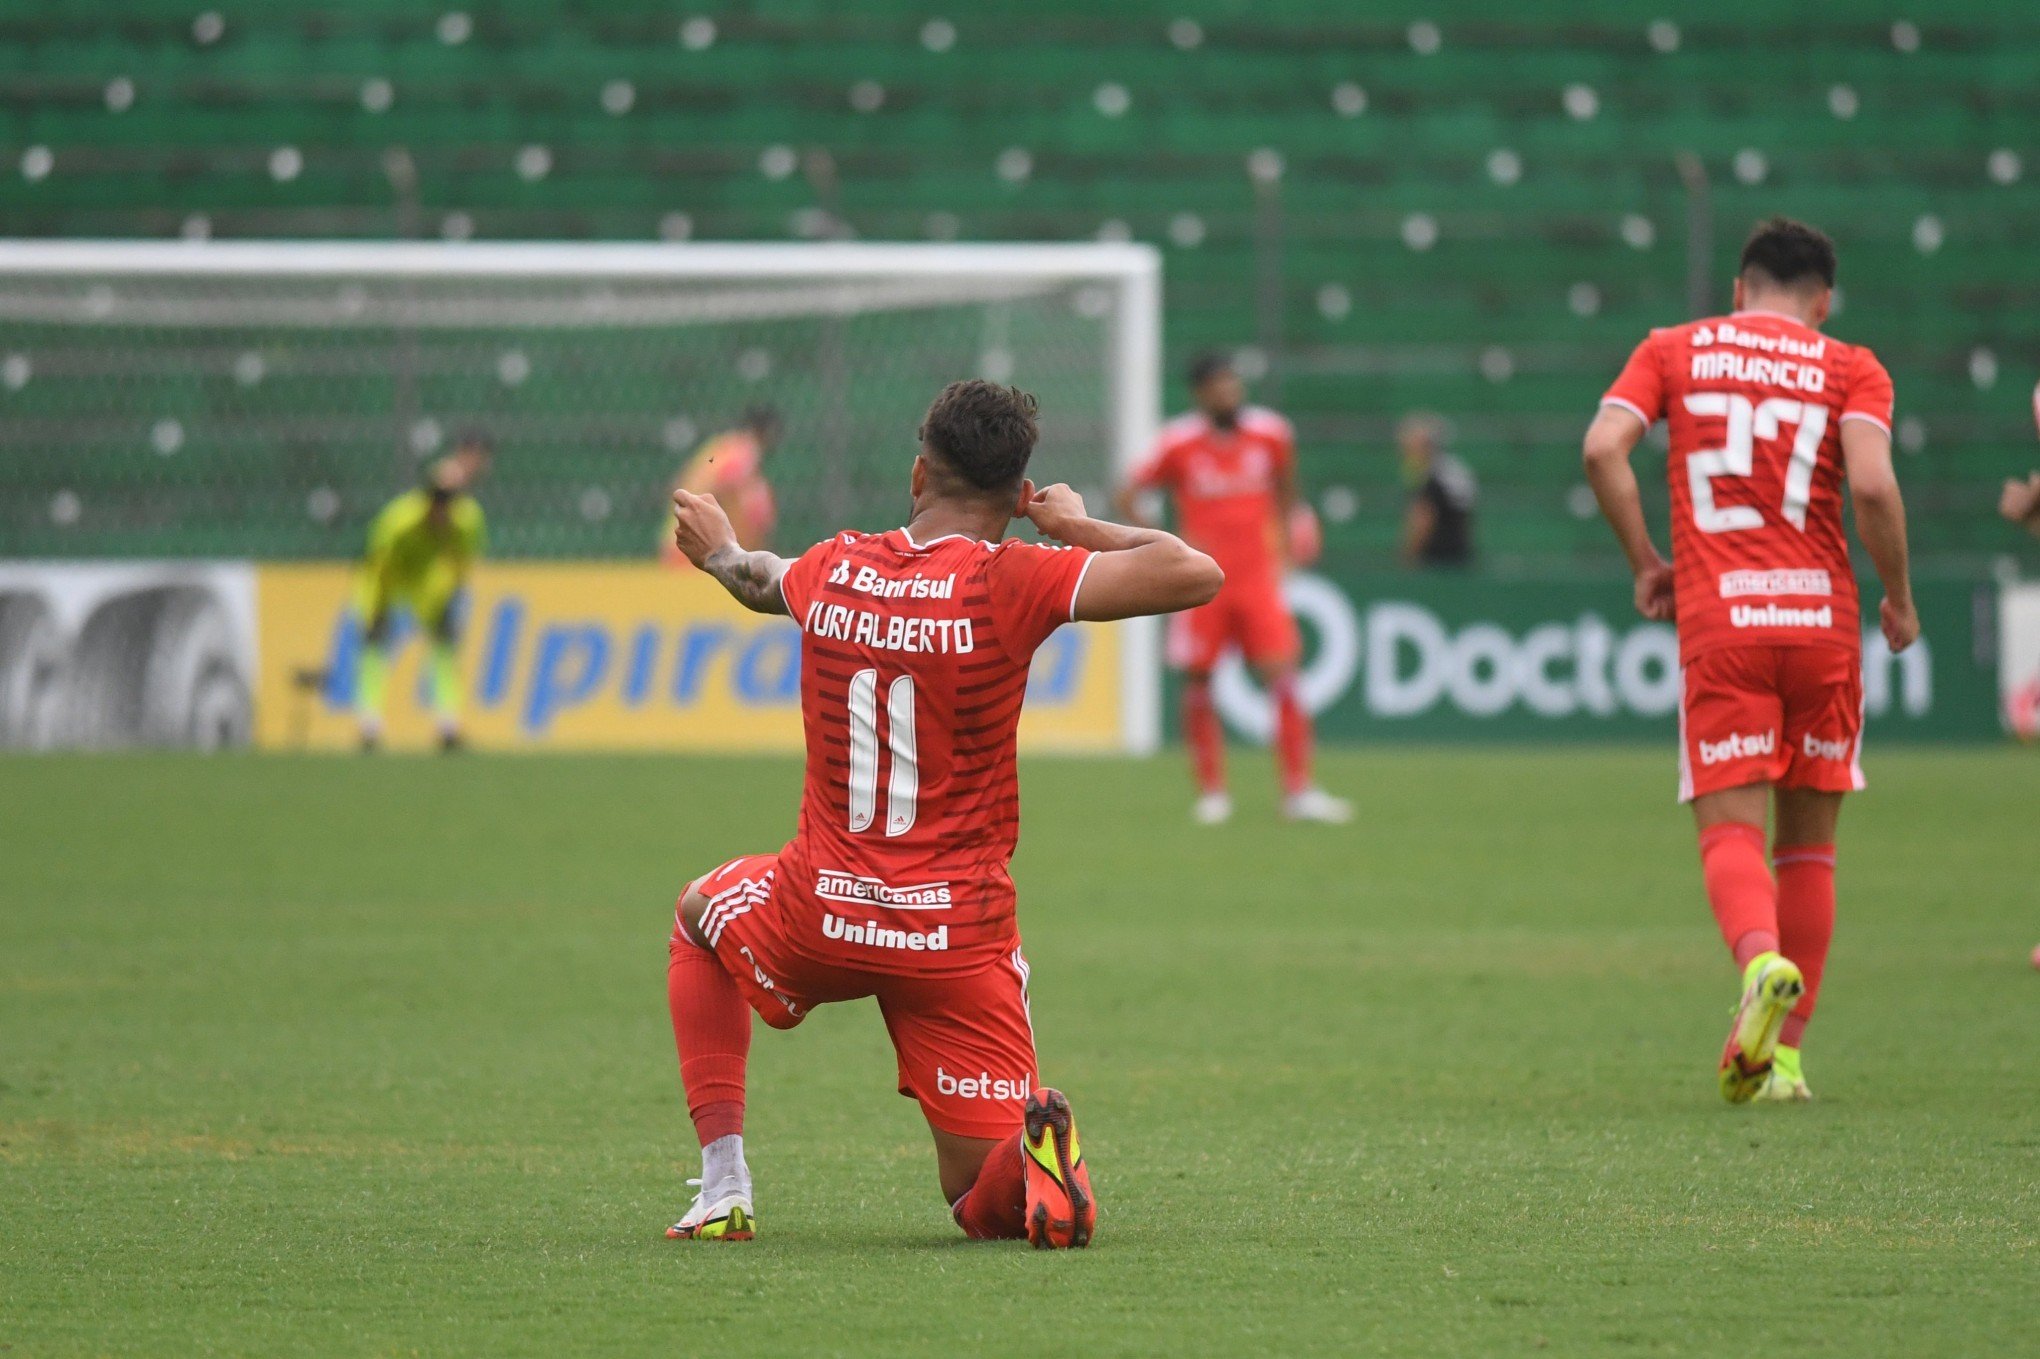
[[1842,422],[1891,431],[1891,373],[1789,316],[1652,331],[1603,404],[1671,424],[1679,655],[1860,647],[1842,531]]

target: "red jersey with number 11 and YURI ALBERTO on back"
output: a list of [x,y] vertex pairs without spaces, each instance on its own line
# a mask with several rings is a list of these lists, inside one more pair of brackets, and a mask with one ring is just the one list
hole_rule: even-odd
[[808,735],[800,830],[779,855],[796,949],[910,975],[1012,953],[1020,704],[1089,559],[894,528],[836,535],[787,567]]

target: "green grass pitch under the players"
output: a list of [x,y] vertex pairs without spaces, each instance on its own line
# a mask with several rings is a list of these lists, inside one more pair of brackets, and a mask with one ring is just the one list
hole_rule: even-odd
[[1818,1102],[1728,1108],[1669,751],[1355,751],[1193,830],[1032,761],[1016,865],[1087,1253],[969,1245],[877,1014],[759,1028],[763,1235],[667,1243],[679,884],[738,759],[0,761],[0,1351],[2013,1353],[2040,1335],[2020,751],[1844,816]]

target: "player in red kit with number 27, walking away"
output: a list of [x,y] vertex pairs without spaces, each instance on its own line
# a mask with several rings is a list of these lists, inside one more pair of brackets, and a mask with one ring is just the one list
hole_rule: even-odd
[[[1693,806],[1707,902],[1742,967],[1720,1063],[1732,1104],[1809,1098],[1799,1041],[1834,935],[1834,826],[1842,794],[1863,788],[1844,480],[1885,588],[1885,641],[1897,653],[1920,635],[1891,375],[1869,349],[1820,333],[1832,304],[1834,243],[1785,218],[1758,224],[1734,314],[1652,331],[1585,441],[1638,610],[1679,624],[1679,800]],[[1656,420],[1671,424],[1671,563],[1630,469]]]

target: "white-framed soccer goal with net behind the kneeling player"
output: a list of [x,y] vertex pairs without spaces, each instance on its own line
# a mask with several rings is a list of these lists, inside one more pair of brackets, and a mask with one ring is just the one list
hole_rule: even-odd
[[[492,559],[651,561],[677,471],[771,408],[773,547],[798,551],[902,520],[920,414],[957,377],[1032,390],[1034,477],[1104,496],[1155,431],[1157,331],[1138,245],[0,241],[0,747],[341,741],[349,633],[320,618],[345,575],[265,565],[257,588],[247,563],[357,557],[467,431],[496,445]],[[279,602],[292,580],[302,606]],[[696,655],[639,628],[671,622],[671,584],[610,620],[628,637],[590,635],[622,608],[602,594],[534,616],[528,643],[500,604],[477,620],[477,739],[798,735],[743,724],[777,692],[773,635],[738,639],[732,684],[763,698],[710,710],[687,669],[661,708],[653,659]],[[604,659],[622,647],[643,663]],[[1118,722],[1067,747],[1155,745],[1157,651],[1114,624],[1095,669]],[[1047,688],[1073,673],[1091,671]],[[579,728],[551,720],[569,700]]]

